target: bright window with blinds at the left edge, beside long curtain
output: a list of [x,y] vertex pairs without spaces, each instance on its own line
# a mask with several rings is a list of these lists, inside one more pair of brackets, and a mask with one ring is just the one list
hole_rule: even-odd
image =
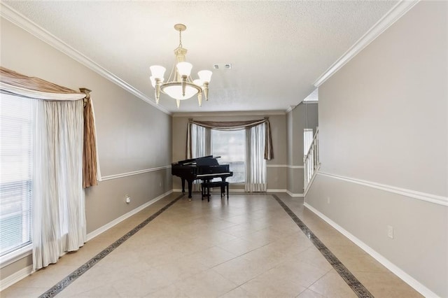
[[31,244],[31,99],[0,94],[0,256]]

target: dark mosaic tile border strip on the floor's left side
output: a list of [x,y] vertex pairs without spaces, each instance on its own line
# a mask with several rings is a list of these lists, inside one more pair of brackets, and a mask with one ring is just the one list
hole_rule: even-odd
[[109,253],[112,253],[113,250],[118,248],[123,242],[125,242],[127,239],[130,239],[131,236],[133,236],[135,233],[139,232],[140,229],[148,225],[149,222],[154,220],[158,217],[162,212],[166,211],[169,207],[171,207],[176,201],[179,201],[183,197],[183,194],[179,195],[179,197],[176,197],[176,199],[170,201],[167,205],[165,205],[163,208],[161,208],[159,211],[151,215],[149,218],[146,218],[143,222],[141,222],[137,227],[134,227],[134,229],[130,230],[130,232],[127,232],[124,236],[122,236],[120,239],[112,243],[108,248],[104,249],[101,253],[98,255],[95,255],[92,257],[92,259],[88,260],[83,266],[79,267],[75,271],[73,271],[69,276],[66,276],[62,281],[59,281],[56,285],[53,285],[52,288],[47,290],[45,293],[43,293],[39,298],[50,298],[55,297],[55,295],[59,294],[59,292],[62,292],[66,287],[68,287],[73,281],[76,281],[76,278],[80,277],[81,275],[85,274],[87,270],[92,268],[97,262],[101,261],[106,257],[106,255],[109,255]]

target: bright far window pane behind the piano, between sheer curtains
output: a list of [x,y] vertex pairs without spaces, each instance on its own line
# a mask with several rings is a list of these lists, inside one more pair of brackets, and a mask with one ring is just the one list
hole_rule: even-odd
[[233,176],[227,179],[230,183],[244,183],[246,171],[246,131],[244,129],[223,131],[211,129],[212,155],[221,156],[220,164],[229,164]]

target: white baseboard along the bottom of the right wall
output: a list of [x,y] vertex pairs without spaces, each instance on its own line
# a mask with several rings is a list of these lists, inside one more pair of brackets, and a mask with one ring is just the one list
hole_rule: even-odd
[[322,218],[325,220],[325,222],[328,222],[329,225],[337,229],[341,234],[346,236],[348,239],[353,241],[357,246],[359,246],[361,249],[363,249],[367,254],[371,255],[375,260],[383,264],[384,267],[389,269],[393,274],[401,278],[405,283],[410,285],[412,288],[414,288],[417,292],[419,292],[424,297],[438,297],[434,292],[426,288],[424,285],[419,283],[419,281],[416,281],[416,279],[412,278],[412,276],[409,276],[405,271],[402,271],[398,266],[393,264],[391,261],[387,260],[386,257],[383,257],[377,251],[370,248],[370,246],[367,246],[363,241],[360,241],[356,236],[353,236],[353,234],[349,233],[344,229],[343,227],[337,225],[336,222],[330,220],[327,216],[323,215],[323,213],[317,211],[316,208],[313,206],[310,206],[307,204],[307,202],[304,202],[303,204],[305,207],[307,207],[310,211],[315,213],[319,218]]

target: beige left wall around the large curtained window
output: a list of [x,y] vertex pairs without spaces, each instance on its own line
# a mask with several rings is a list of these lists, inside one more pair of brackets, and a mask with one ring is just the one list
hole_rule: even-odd
[[[1,19],[1,66],[78,90],[92,90],[102,176],[154,169],[100,182],[86,191],[87,234],[172,190],[171,116]],[[125,203],[125,194],[132,198]],[[1,278],[31,264],[31,257],[1,269]]]

